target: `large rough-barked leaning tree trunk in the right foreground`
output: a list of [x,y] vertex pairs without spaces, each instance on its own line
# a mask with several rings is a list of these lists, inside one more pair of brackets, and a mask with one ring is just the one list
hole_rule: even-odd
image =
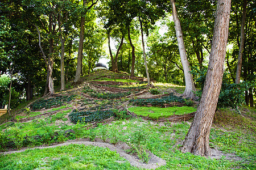
[[218,0],[217,2],[212,48],[203,94],[195,118],[183,141],[182,152],[192,152],[202,156],[210,155],[209,135],[224,73],[230,6],[231,0]]

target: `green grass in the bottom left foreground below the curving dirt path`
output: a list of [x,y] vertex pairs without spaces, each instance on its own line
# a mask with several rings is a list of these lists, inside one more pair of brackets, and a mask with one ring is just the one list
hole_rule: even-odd
[[137,169],[109,148],[68,145],[1,155],[1,169]]

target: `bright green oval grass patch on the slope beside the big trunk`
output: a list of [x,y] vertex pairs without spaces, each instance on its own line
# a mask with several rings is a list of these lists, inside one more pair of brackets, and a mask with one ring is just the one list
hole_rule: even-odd
[[159,108],[159,107],[131,107],[129,111],[141,116],[149,116],[150,118],[159,117],[169,117],[174,114],[187,114],[196,111],[193,107],[169,107],[169,108]]

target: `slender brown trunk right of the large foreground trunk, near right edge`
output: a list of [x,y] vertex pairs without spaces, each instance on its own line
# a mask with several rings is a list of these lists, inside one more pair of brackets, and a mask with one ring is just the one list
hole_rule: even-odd
[[241,69],[242,69],[242,58],[243,58],[243,45],[245,44],[245,18],[246,18],[246,7],[247,0],[243,0],[243,14],[242,14],[242,23],[241,23],[241,40],[238,53],[237,61],[237,74],[236,74],[236,84],[240,83]]

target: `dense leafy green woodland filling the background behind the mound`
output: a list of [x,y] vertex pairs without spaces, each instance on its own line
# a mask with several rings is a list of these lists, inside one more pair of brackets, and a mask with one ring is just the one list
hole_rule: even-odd
[[[199,89],[196,94],[200,96],[217,1],[175,3],[193,81]],[[10,87],[12,108],[35,96],[54,93],[54,88],[64,90],[65,82],[77,83],[80,76],[92,73],[100,58],[110,60],[112,71],[147,77],[142,33],[150,78],[185,85],[170,1],[3,0],[0,12],[0,105],[9,103]],[[255,105],[255,16],[254,1],[232,1],[219,105]],[[238,84],[236,73],[241,52]]]

